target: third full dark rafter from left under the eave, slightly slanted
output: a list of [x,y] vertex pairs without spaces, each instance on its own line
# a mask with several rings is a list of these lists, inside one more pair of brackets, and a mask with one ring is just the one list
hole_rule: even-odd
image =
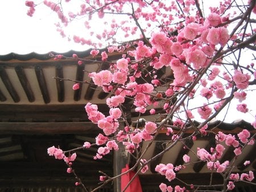
[[36,78],[38,79],[38,84],[39,84],[41,93],[43,95],[44,103],[49,103],[51,100],[49,98],[46,78],[44,78],[44,73],[40,65],[35,66],[35,73],[36,73]]

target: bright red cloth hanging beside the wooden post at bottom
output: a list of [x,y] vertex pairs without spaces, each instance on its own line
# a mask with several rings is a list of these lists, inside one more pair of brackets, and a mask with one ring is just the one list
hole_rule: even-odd
[[[126,172],[129,170],[129,165],[126,164],[125,168],[122,169],[122,173]],[[136,172],[133,170],[130,171],[129,173],[126,173],[121,176],[121,191],[125,189],[129,181],[133,178]],[[125,192],[142,192],[141,188],[141,182],[139,181],[139,176],[137,175],[134,180],[130,183],[130,185],[126,188]]]

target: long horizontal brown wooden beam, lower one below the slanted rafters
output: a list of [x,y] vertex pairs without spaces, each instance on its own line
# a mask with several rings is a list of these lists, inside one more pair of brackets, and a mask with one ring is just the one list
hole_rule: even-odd
[[100,132],[100,128],[91,122],[44,122],[44,123],[17,123],[0,122],[1,134],[73,134]]

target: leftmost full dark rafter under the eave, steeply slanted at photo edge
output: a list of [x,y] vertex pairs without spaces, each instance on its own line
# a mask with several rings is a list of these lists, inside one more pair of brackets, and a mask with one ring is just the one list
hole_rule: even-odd
[[14,89],[13,84],[11,84],[10,78],[5,71],[5,68],[3,68],[3,66],[0,66],[0,77],[3,81],[3,84],[5,84],[6,89],[10,93],[11,98],[13,98],[13,101],[15,103],[18,103],[20,101],[19,95],[16,92],[16,90]]

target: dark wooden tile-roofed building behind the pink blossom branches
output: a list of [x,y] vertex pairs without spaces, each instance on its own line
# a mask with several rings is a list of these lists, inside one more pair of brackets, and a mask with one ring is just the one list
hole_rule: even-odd
[[[80,147],[85,141],[93,143],[101,130],[97,124],[89,121],[84,110],[86,103],[97,103],[98,110],[108,115],[108,106],[105,99],[110,95],[104,93],[88,77],[88,72],[99,72],[108,69],[110,62],[101,62],[100,57],[92,58],[90,50],[84,52],[69,51],[61,53],[65,57],[73,54],[85,59],[82,65],[77,65],[78,60],[55,60],[53,55],[60,53],[38,54],[30,53],[18,55],[10,53],[0,56],[0,192],[1,191],[82,191],[75,187],[76,182],[72,174],[66,172],[67,166],[63,161],[55,160],[47,155],[47,148],[55,145],[62,149]],[[109,61],[115,61],[121,53],[111,53]],[[86,81],[80,84],[79,90],[73,90],[75,82],[61,81],[53,78],[65,78],[76,81]],[[172,74],[163,69],[159,77],[172,78]],[[130,101],[126,101],[125,111],[127,118],[132,121],[138,113],[131,108]],[[162,108],[156,108],[156,113]],[[144,114],[147,118],[149,110]],[[238,133],[246,128],[252,133],[254,128],[247,122],[240,120],[234,123],[213,122],[209,127],[214,132]],[[155,165],[171,162],[183,165],[183,155],[191,156],[193,161],[198,158],[192,155],[187,148],[214,147],[213,136],[198,138],[197,141],[185,140],[177,144],[171,152],[156,158],[150,164],[150,169],[145,174],[140,174],[143,191],[159,191],[159,183],[167,180],[155,173]],[[164,144],[170,140],[165,133],[159,134],[156,141],[144,158],[163,151]],[[142,148],[147,143],[144,142]],[[184,148],[185,147],[185,148]],[[187,147],[187,148],[186,148]],[[239,157],[238,169],[242,172],[256,169],[255,145],[246,148],[245,156]],[[123,151],[110,153],[101,160],[93,160],[97,148],[84,149],[77,152],[77,160],[73,165],[76,173],[81,177],[88,189],[97,186],[100,176],[98,170],[113,176],[119,173],[126,158],[121,158]],[[221,161],[234,158],[233,148],[227,147]],[[249,166],[243,162],[250,160]],[[207,185],[209,178],[214,183],[221,183],[218,174],[210,174],[205,169],[204,162],[188,165],[187,169],[180,170],[177,178],[187,183],[200,183]],[[174,180],[169,185],[183,185]],[[207,189],[205,189],[207,190]],[[218,189],[215,189],[218,190]],[[238,191],[255,191],[253,186],[238,184]],[[98,191],[119,191],[118,183],[108,185]]]

